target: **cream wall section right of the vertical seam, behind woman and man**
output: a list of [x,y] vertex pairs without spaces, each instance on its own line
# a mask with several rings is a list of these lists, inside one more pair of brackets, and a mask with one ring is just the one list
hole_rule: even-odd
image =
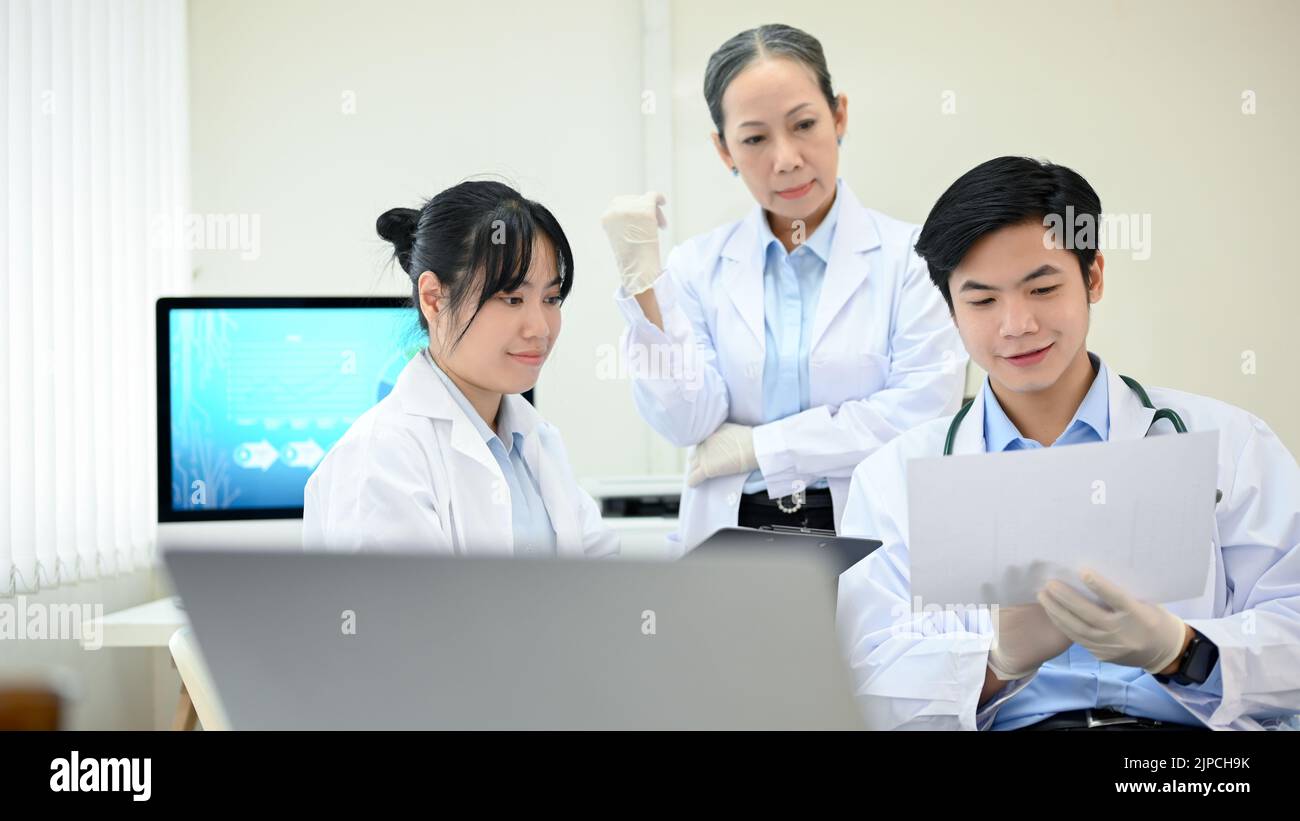
[[[1074,168],[1106,212],[1152,225],[1149,260],[1108,256],[1091,348],[1144,383],[1257,413],[1300,453],[1300,5],[676,1],[672,18],[679,235],[750,205],[708,139],[708,55],[760,23],[798,26],[849,96],[841,175],[864,203],[922,222],[994,156]],[[945,91],[956,114],[941,113]],[[1254,374],[1242,370],[1247,351]]]

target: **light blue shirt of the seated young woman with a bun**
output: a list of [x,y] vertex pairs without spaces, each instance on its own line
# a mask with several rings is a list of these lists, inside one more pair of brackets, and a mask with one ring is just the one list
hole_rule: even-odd
[[488,427],[488,422],[484,421],[484,417],[478,416],[478,412],[469,404],[465,395],[460,392],[460,388],[451,381],[451,377],[438,368],[438,364],[429,356],[429,349],[425,348],[421,353],[429,365],[433,366],[433,373],[438,374],[438,378],[442,379],[451,398],[465,412],[465,416],[469,417],[474,430],[484,438],[488,449],[491,451],[497,465],[500,468],[500,474],[506,478],[506,485],[510,487],[510,516],[511,529],[515,533],[515,555],[554,556],[555,527],[551,525],[550,513],[546,512],[546,503],[542,501],[541,486],[538,486],[537,479],[524,462],[524,434],[515,430],[508,403],[502,398],[499,416],[497,417],[497,426],[508,434],[503,440],[491,427]]

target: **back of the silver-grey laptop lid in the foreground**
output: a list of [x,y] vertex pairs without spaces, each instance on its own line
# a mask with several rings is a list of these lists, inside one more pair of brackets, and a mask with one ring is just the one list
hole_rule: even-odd
[[828,557],[164,555],[235,729],[859,729]]

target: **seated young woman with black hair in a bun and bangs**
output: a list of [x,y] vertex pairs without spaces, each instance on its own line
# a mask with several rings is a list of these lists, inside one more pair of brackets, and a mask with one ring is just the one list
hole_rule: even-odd
[[303,543],[480,556],[607,556],[618,535],[575,481],[537,383],[573,287],[555,217],[465,182],[377,223],[411,277],[429,346],[307,482]]

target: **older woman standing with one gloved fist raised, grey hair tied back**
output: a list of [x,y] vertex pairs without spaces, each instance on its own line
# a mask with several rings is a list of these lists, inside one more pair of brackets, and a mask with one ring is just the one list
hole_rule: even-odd
[[718,156],[755,204],[659,264],[662,196],[603,217],[642,417],[693,447],[675,552],[724,526],[833,530],[853,468],[956,409],[966,353],[913,253],[916,226],[837,177],[848,99],[822,45],[762,26],[710,58]]

